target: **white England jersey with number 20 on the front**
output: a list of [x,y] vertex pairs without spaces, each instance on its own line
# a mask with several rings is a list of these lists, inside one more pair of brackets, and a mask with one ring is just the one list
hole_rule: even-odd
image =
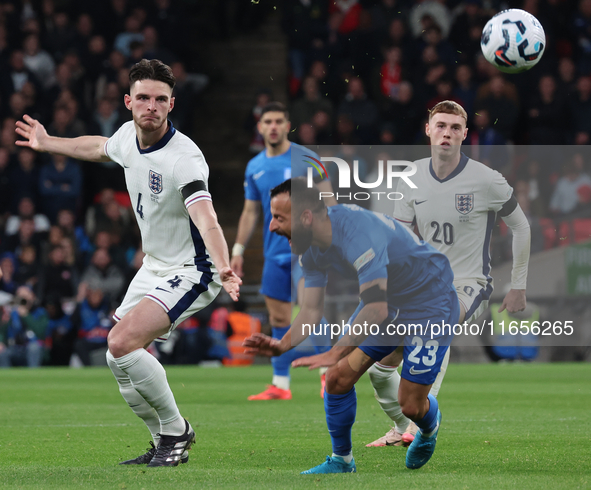
[[423,240],[449,259],[454,283],[475,279],[488,283],[492,292],[490,238],[497,212],[513,189],[499,172],[463,154],[443,180],[435,175],[430,158],[416,164],[410,179],[417,188],[400,179],[397,191],[404,198],[396,201],[394,217],[409,227],[416,220]]

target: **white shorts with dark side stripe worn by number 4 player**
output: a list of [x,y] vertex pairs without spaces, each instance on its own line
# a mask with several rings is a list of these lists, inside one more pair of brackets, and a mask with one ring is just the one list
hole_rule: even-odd
[[170,330],[156,339],[164,342],[177,325],[209,305],[221,288],[217,272],[200,272],[196,266],[179,267],[161,275],[142,266],[113,318],[121,321],[143,298],[151,299],[170,318]]

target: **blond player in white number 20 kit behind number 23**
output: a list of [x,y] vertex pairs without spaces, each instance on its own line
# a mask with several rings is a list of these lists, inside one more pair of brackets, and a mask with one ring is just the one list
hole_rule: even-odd
[[[525,287],[530,249],[527,218],[513,196],[513,189],[495,170],[461,152],[466,139],[467,114],[456,102],[443,101],[429,111],[425,133],[431,142],[431,158],[419,160],[412,177],[416,189],[402,179],[397,191],[394,218],[449,259],[460,301],[460,321],[472,322],[488,305],[493,291],[490,276],[490,239],[497,216],[513,233],[511,290],[500,311],[521,311],[526,306]],[[395,426],[368,446],[408,446],[417,431],[402,414],[398,403],[401,354],[394,352],[369,369],[375,396]],[[431,388],[437,396],[449,362],[449,350]]]

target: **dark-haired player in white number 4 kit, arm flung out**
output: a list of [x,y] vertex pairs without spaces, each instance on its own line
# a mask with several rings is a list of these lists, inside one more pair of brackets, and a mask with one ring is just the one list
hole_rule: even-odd
[[180,415],[162,365],[145,347],[210,304],[222,286],[237,300],[242,281],[229,265],[226,241],[207,190],[209,169],[199,148],[168,113],[175,85],[170,68],[142,60],[129,73],[125,106],[133,121],[111,137],[56,138],[25,115],[17,141],[36,151],[93,162],[117,162],[142,235],[144,264],[115,312],[107,362],[119,391],[143,419],[156,447],[122,464],[177,466],[188,460],[195,432]]

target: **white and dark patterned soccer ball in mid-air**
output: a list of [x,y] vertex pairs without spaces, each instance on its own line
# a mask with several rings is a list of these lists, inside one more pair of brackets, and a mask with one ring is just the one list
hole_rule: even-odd
[[480,39],[484,57],[505,73],[529,70],[540,61],[545,46],[538,19],[520,9],[499,12],[486,23]]

